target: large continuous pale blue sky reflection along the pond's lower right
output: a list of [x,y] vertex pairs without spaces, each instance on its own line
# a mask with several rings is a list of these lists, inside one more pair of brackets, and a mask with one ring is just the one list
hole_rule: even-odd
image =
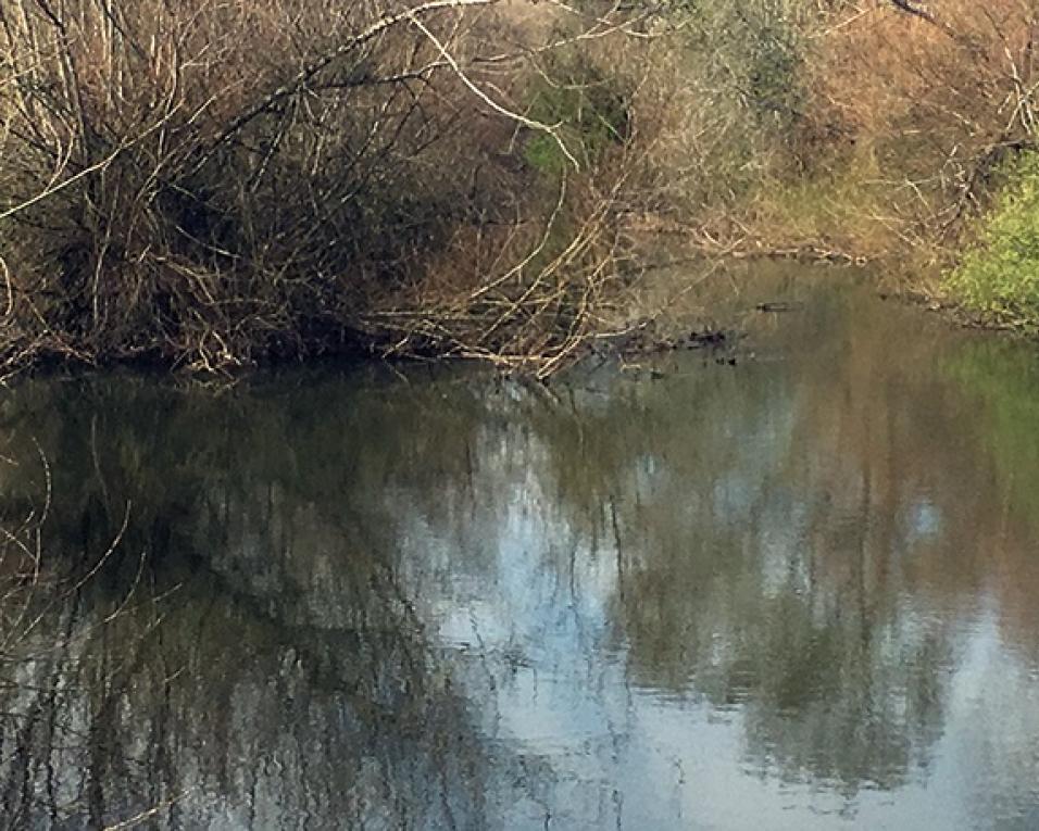
[[[1039,716],[1039,691],[1028,693],[1022,682],[1035,688],[1034,679],[1015,678],[1019,669],[1005,666],[988,618],[959,633],[965,659],[953,675],[943,735],[929,768],[906,784],[894,792],[866,788],[847,797],[825,782],[762,776],[743,758],[738,708],[719,712],[692,698],[631,689],[623,653],[605,659],[596,654],[605,647],[603,609],[615,591],[615,574],[603,567],[605,552],[598,559],[583,552],[575,579],[579,588],[576,594],[563,592],[544,581],[531,556],[537,525],[529,515],[502,524],[501,581],[484,600],[443,597],[436,605],[442,615],[440,637],[453,649],[476,649],[492,664],[508,666],[487,705],[497,714],[496,739],[548,759],[559,790],[543,798],[554,806],[561,827],[612,827],[619,819],[630,828],[753,829],[767,817],[767,828],[777,831],[837,824],[954,829],[965,828],[964,818],[973,816],[979,828],[998,828],[975,816],[977,807],[998,802],[987,794],[1018,779],[1016,764],[1036,771],[1036,759],[1027,755],[1035,751],[1029,742],[1035,725],[998,722],[1000,713],[1022,717],[1022,694],[1030,705],[1024,712]],[[509,652],[517,644],[523,658],[512,660]],[[471,662],[472,698],[479,702],[488,693],[475,667],[480,659],[465,660]],[[1007,696],[1014,706],[1002,710],[999,701]],[[993,750],[1006,753],[1003,745],[992,747],[993,727],[1010,735],[1021,728],[1016,750],[1026,758],[982,777],[978,760]],[[568,813],[560,815],[561,806]],[[535,827],[543,811],[531,801],[517,804],[509,816],[517,827]]]

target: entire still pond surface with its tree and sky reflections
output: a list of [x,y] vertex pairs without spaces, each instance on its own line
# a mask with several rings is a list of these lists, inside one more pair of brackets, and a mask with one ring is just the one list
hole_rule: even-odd
[[663,377],[5,393],[0,828],[1039,827],[1039,352],[799,285]]

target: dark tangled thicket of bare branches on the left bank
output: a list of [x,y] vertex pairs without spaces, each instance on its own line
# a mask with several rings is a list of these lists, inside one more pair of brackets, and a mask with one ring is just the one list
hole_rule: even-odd
[[0,358],[362,347],[552,372],[624,323],[646,20],[4,2]]

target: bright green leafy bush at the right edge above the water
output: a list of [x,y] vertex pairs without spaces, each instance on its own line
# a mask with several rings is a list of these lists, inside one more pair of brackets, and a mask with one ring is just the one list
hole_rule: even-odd
[[987,319],[1039,330],[1039,153],[1004,165],[1006,185],[946,288]]

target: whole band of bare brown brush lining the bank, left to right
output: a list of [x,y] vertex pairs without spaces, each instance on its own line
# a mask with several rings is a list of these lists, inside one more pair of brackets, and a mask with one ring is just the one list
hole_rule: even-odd
[[1017,0],[7,0],[0,363],[549,374],[633,325],[649,229],[917,284],[973,240],[946,288],[996,297],[1036,32]]

